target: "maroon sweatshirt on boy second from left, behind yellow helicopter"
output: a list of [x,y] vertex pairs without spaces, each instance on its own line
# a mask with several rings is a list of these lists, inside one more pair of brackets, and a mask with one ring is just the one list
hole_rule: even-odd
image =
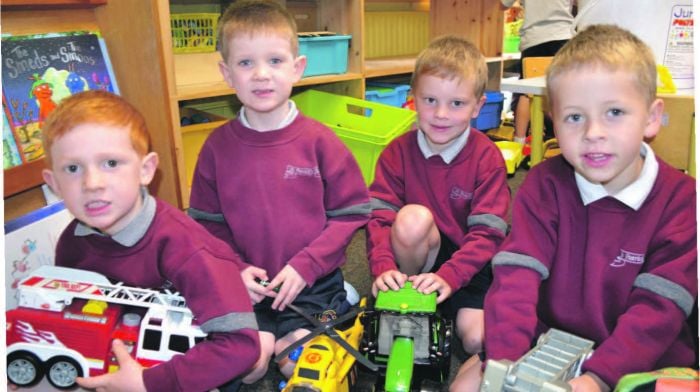
[[270,279],[287,264],[309,286],[345,262],[369,218],[369,197],[348,148],[302,114],[266,132],[229,121],[199,154],[188,213]]

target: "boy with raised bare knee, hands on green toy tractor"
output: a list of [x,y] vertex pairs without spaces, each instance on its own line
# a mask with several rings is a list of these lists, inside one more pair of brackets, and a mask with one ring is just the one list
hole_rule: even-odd
[[418,129],[393,140],[370,187],[367,251],[379,290],[409,280],[456,319],[467,353],[481,351],[489,261],[503,241],[510,191],[501,152],[470,127],[487,69],[470,42],[445,36],[421,52],[411,87]]

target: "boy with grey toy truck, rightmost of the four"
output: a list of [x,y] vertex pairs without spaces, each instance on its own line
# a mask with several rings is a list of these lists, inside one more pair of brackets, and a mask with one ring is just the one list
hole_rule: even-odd
[[619,27],[592,26],[557,53],[547,90],[562,156],[518,190],[493,260],[487,357],[516,360],[558,328],[596,343],[574,391],[691,366],[695,182],[644,143],[664,106],[651,50]]

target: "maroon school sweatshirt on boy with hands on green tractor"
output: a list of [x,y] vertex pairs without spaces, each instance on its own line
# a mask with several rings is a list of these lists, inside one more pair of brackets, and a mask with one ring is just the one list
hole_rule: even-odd
[[474,130],[467,131],[465,146],[449,164],[439,155],[426,159],[417,132],[394,139],[377,162],[367,224],[370,271],[376,277],[397,269],[391,225],[403,206],[421,204],[460,247],[436,272],[454,292],[491,260],[505,237],[510,203],[505,163],[496,145]]

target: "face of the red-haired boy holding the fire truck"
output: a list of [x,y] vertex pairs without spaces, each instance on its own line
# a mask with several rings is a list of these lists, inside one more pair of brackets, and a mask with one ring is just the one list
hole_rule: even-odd
[[108,235],[126,227],[142,206],[140,188],[153,179],[158,157],[139,156],[129,130],[81,124],[54,141],[44,180],[82,223]]

